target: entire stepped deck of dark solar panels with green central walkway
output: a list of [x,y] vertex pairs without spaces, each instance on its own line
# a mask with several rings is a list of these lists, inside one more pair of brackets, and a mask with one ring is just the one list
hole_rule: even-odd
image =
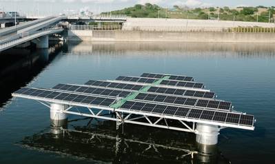
[[[127,79],[134,83],[88,81],[85,85],[58,84],[52,89],[22,88],[14,92],[13,96],[48,103],[89,107],[89,109],[97,108],[193,123],[254,129],[254,116],[232,111],[232,103],[214,99],[214,92],[201,88],[195,90],[172,88],[164,84],[167,79],[177,83],[183,82],[185,78],[192,81],[191,77],[166,74],[143,74],[142,76],[149,78],[120,76],[118,80]],[[143,84],[136,84],[140,79],[150,78],[159,79],[152,79],[150,83],[146,80],[147,82]]]

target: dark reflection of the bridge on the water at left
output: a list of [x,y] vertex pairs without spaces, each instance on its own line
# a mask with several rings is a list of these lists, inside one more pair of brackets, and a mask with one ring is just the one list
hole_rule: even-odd
[[0,107],[11,93],[30,83],[61,51],[63,43],[49,49],[10,49],[0,54]]

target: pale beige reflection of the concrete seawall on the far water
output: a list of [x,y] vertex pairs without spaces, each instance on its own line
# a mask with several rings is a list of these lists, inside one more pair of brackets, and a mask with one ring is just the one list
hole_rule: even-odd
[[[185,54],[201,56],[208,54],[210,56],[226,57],[228,55],[245,58],[274,58],[275,46],[272,43],[156,43],[156,42],[68,42],[68,54],[101,54],[101,55],[125,55],[127,52],[132,54],[167,55],[165,52],[176,52],[176,54]],[[152,53],[149,53],[152,52]],[[192,54],[190,54],[192,52]],[[222,53],[221,53],[222,52]],[[188,54],[189,53],[189,54]],[[131,54],[131,55],[132,55]],[[147,55],[146,54],[146,55]]]

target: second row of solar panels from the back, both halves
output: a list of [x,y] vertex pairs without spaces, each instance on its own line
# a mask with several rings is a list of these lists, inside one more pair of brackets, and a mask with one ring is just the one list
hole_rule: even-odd
[[[143,77],[132,77],[132,76],[119,76],[116,78],[117,81],[129,81],[129,82],[137,82],[137,83],[154,83],[159,81],[159,79],[150,79]],[[204,87],[203,83],[194,83],[187,81],[172,81],[172,80],[163,80],[160,83],[161,85],[170,85],[175,87],[184,87],[184,88],[198,88],[201,89]]]

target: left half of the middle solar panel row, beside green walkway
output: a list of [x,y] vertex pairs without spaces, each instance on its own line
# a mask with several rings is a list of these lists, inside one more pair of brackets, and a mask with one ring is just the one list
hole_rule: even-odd
[[140,90],[143,88],[143,85],[134,85],[134,84],[125,84],[125,83],[115,83],[115,82],[108,82],[108,81],[88,81],[85,85],[94,85],[106,88],[119,88],[123,90]]

